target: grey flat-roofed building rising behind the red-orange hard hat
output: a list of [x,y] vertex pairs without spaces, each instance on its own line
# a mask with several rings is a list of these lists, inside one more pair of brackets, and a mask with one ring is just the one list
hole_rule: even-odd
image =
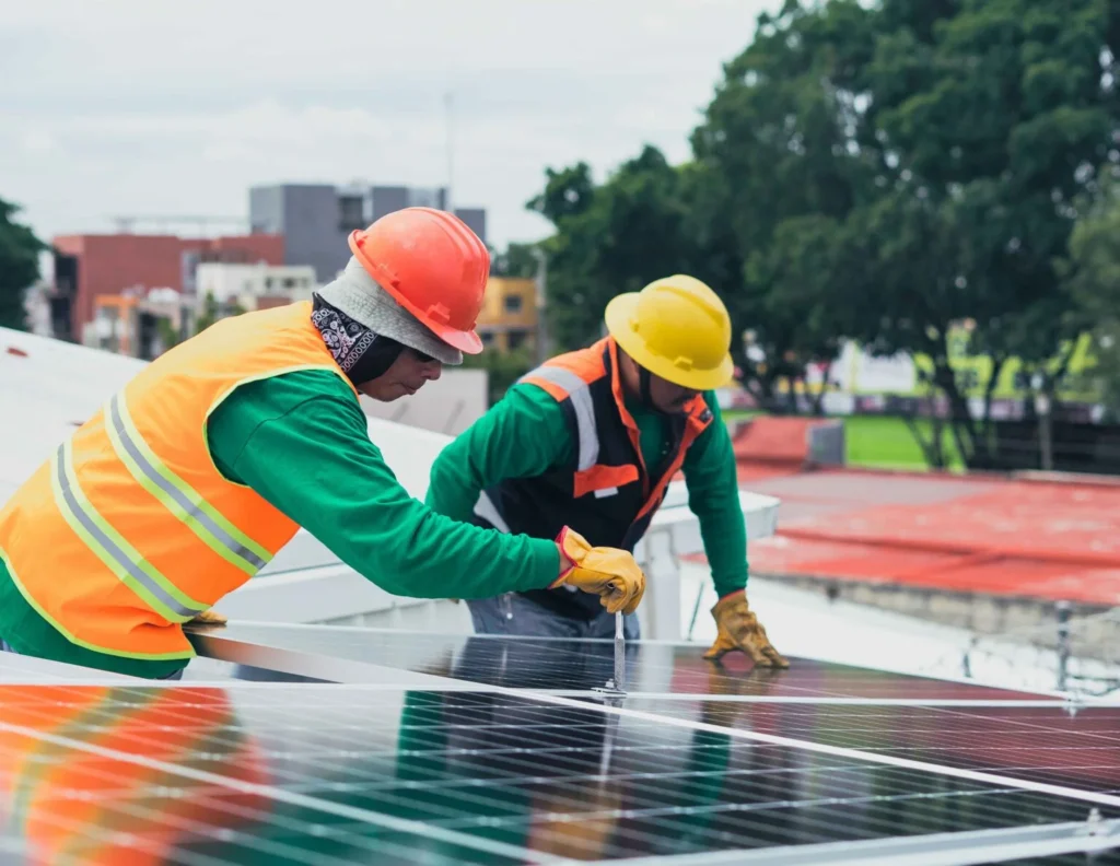
[[[253,232],[282,234],[284,264],[309,264],[320,283],[346,267],[346,239],[385,214],[405,207],[446,209],[444,187],[334,186],[278,184],[249,190],[249,221]],[[459,208],[456,215],[486,242],[486,211]]]

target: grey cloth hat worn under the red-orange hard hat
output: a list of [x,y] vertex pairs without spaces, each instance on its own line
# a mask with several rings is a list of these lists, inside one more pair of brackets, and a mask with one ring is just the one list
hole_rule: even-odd
[[463,363],[459,350],[437,337],[398,304],[353,255],[338,279],[319,289],[319,297],[375,334],[395,339],[445,364]]

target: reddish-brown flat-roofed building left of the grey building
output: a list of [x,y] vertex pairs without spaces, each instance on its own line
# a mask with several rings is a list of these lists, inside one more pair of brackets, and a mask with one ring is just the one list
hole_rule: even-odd
[[55,238],[52,332],[82,343],[93,322],[95,299],[124,290],[171,288],[193,294],[200,262],[283,264],[278,234],[186,239],[156,234],[74,234]]

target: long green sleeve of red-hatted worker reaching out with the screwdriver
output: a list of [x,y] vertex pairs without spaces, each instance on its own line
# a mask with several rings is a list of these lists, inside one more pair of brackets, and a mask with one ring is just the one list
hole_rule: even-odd
[[239,388],[207,427],[215,465],[346,565],[394,595],[485,598],[539,589],[559,571],[551,541],[458,523],[412,499],[370,441],[334,374],[301,371]]

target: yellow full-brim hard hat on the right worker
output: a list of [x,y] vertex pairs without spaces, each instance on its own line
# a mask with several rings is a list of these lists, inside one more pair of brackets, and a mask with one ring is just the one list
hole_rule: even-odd
[[678,273],[607,305],[607,330],[642,367],[682,388],[731,381],[731,317],[706,283]]

